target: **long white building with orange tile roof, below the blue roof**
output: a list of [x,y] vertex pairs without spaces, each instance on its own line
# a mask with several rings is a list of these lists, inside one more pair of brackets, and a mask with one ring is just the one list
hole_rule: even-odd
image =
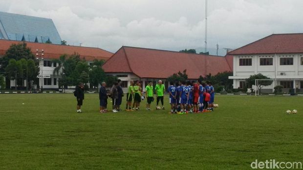
[[[1,40],[0,39],[0,57],[5,55],[6,50],[13,44],[23,43],[20,41],[11,41],[11,40]],[[72,45],[58,45],[58,44],[49,44],[49,43],[31,43],[26,42],[27,47],[31,48],[32,53],[40,61],[40,71],[39,71],[39,82],[37,83],[37,88],[43,87],[43,89],[58,89],[58,80],[59,75],[54,74],[53,71],[57,63],[52,63],[53,59],[59,59],[63,54],[72,55],[79,54],[81,58],[85,58],[86,61],[92,63],[94,59],[97,60],[108,60],[112,53],[100,48],[93,47],[83,47],[83,46],[72,46]],[[24,81],[23,88],[26,86]],[[15,81],[7,81],[6,88],[15,87]]]

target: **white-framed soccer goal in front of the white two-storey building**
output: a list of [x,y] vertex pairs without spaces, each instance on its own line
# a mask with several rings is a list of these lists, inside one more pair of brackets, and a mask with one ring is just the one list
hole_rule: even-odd
[[261,91],[273,94],[275,90],[279,93],[291,93],[287,90],[293,90],[292,93],[296,93],[296,90],[301,87],[301,82],[303,82],[303,79],[256,79],[253,89],[255,90],[255,96],[262,94]]

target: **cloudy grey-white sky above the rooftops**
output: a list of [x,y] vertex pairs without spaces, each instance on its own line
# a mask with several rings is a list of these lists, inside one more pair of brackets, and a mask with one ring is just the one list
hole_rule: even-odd
[[[208,0],[208,48],[303,32],[303,0]],[[204,50],[205,0],[0,0],[0,11],[51,18],[70,45]],[[213,49],[211,49],[213,48]]]

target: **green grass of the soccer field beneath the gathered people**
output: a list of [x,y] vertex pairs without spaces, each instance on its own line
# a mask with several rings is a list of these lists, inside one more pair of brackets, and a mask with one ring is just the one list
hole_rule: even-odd
[[98,95],[86,94],[79,114],[73,94],[0,94],[0,169],[247,170],[256,159],[303,162],[302,101],[218,95],[212,113],[172,115],[166,98],[166,110],[143,110],[143,101],[141,111],[100,114]]

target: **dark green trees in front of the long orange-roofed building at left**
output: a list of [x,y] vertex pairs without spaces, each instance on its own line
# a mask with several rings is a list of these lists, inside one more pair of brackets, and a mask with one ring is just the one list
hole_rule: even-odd
[[[105,74],[102,69],[105,61],[94,60],[88,64],[86,59],[81,58],[77,53],[61,55],[59,59],[51,60],[51,63],[57,63],[53,74],[60,75],[59,87],[64,89],[67,86],[78,85],[79,82],[85,84],[89,82],[97,87],[103,81],[111,85],[117,80],[117,77]],[[2,89],[5,88],[5,79],[6,81],[16,80],[16,90],[17,86],[32,87],[32,85],[39,83],[39,60],[24,42],[12,44],[5,55],[0,58],[0,65],[0,86]],[[24,80],[26,80],[26,85],[23,85]]]

